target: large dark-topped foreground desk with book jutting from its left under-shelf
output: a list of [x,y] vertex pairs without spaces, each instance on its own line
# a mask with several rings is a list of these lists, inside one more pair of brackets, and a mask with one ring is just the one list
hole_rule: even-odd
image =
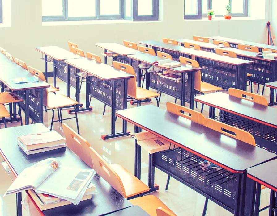
[[[249,210],[249,206],[244,205],[246,169],[277,158],[271,152],[152,105],[120,110],[117,116],[134,124],[135,132],[142,128],[178,146],[149,155],[148,184],[152,191],[155,166],[235,215],[248,215],[244,214],[244,209]],[[141,147],[136,144],[135,175],[138,178],[140,156]],[[204,172],[200,165],[205,159],[222,169]]]

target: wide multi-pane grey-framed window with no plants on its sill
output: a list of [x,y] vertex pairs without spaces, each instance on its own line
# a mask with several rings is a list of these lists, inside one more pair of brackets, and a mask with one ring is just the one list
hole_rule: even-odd
[[[1,1],[1,0],[0,0]],[[158,20],[159,0],[42,0],[42,21]]]

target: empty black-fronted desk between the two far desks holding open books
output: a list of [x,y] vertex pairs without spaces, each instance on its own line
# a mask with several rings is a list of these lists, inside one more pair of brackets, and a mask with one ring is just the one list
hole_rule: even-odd
[[[207,44],[207,43],[204,43]],[[202,68],[201,80],[222,88],[236,88],[246,91],[246,68],[252,61],[220,56],[215,53],[182,48],[184,57],[194,57]]]

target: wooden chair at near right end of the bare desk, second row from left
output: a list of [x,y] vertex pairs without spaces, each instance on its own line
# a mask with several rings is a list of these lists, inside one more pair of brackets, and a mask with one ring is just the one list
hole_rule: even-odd
[[[113,67],[135,76],[134,68],[129,64],[113,61]],[[128,96],[137,100],[138,106],[141,106],[140,100],[142,99],[155,98],[157,101],[157,106],[159,107],[159,94],[141,87],[137,87],[135,78],[128,80]]]

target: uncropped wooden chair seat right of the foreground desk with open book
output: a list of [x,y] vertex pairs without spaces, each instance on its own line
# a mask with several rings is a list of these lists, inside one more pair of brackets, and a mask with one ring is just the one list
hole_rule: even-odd
[[126,192],[126,197],[132,197],[134,195],[149,191],[149,187],[146,184],[140,181],[121,165],[110,164],[110,167],[120,177]]

